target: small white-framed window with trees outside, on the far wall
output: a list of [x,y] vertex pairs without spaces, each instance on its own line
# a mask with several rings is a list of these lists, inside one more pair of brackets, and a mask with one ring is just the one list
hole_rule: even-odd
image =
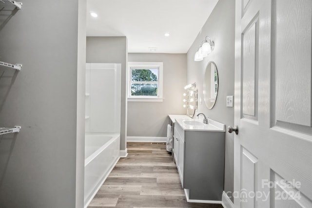
[[162,102],[162,62],[128,63],[128,101]]

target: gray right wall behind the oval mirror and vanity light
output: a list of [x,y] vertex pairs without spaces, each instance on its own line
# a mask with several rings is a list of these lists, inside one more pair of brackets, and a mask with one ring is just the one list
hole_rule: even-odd
[[[187,53],[187,80],[196,82],[198,97],[203,100],[203,76],[209,61],[214,61],[218,70],[219,88],[215,107],[208,110],[202,102],[198,104],[198,113],[226,124],[234,125],[234,108],[226,107],[226,96],[234,95],[234,19],[235,1],[219,0],[206,21],[201,33],[195,39]],[[215,41],[215,50],[203,61],[194,61],[194,55],[201,41],[209,36]],[[225,134],[225,176],[224,189],[232,191],[234,186],[234,134]],[[233,199],[232,199],[233,200]]]

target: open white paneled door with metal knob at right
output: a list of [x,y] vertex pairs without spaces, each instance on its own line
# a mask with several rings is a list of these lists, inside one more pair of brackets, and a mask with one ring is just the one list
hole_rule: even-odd
[[312,208],[312,0],[236,0],[234,207]]

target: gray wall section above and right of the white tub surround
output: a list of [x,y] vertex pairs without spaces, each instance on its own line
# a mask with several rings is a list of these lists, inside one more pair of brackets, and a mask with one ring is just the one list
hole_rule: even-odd
[[121,118],[120,150],[126,149],[127,102],[126,102],[126,37],[87,37],[87,63],[121,63]]

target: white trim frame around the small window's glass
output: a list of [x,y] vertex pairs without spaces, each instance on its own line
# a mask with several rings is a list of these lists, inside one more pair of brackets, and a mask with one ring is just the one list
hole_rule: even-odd
[[[131,76],[131,68],[158,68],[158,89],[157,96],[131,96],[131,86],[130,86],[130,76]],[[128,62],[128,70],[127,70],[127,99],[128,101],[134,102],[162,102],[162,79],[163,79],[163,62]]]

